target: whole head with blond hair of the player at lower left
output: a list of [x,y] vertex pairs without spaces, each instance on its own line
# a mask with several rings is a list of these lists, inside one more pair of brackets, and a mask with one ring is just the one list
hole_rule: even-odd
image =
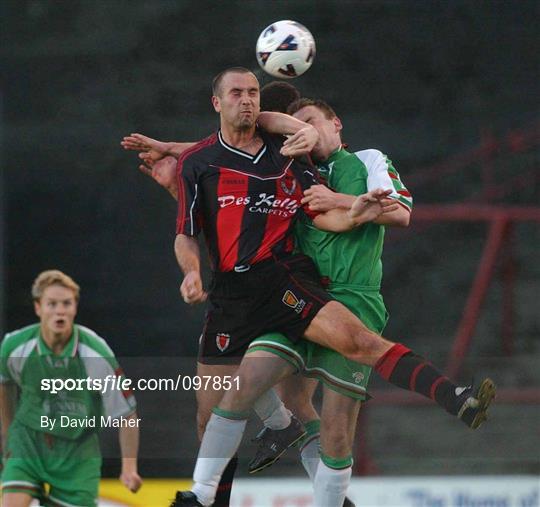
[[45,335],[71,334],[79,294],[79,285],[61,271],[51,269],[37,276],[32,285],[32,299]]

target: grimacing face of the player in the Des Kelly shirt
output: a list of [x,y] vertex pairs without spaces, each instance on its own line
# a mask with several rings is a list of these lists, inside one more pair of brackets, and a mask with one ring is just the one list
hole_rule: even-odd
[[226,74],[212,103],[222,123],[235,130],[248,130],[255,126],[260,112],[259,82],[251,73]]

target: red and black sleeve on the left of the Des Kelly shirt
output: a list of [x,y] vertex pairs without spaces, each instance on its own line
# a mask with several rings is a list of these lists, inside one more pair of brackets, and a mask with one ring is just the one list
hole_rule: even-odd
[[178,159],[176,178],[178,181],[178,214],[176,217],[176,234],[197,236],[200,232],[199,210],[199,178],[200,171],[195,168],[194,157],[185,152]]

